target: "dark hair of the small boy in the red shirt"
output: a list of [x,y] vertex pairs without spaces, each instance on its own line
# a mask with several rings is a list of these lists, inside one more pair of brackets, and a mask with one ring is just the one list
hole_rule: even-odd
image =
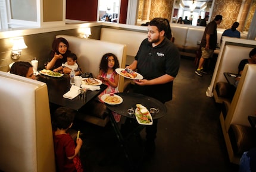
[[67,107],[59,107],[54,112],[53,124],[58,129],[67,129],[74,120],[75,110]]

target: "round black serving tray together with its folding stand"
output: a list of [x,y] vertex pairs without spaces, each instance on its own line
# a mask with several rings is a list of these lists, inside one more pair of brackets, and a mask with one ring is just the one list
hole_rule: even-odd
[[[129,139],[132,138],[132,136],[140,137],[141,130],[149,125],[139,124],[138,121],[136,120],[135,114],[129,114],[128,110],[129,109],[135,110],[136,104],[141,104],[142,106],[145,106],[146,109],[148,110],[151,108],[155,108],[158,110],[158,112],[152,115],[152,119],[154,123],[154,119],[159,119],[166,115],[167,108],[163,103],[161,103],[161,101],[143,94],[138,94],[138,93],[115,93],[115,94],[119,95],[123,101],[120,104],[115,104],[115,105],[107,104],[107,103],[105,104],[108,109],[111,125],[115,130],[115,135],[118,138],[121,148],[123,148],[124,155],[127,158],[127,161],[130,167],[135,168],[135,162],[133,161],[133,158],[130,155],[130,151],[127,144]],[[133,128],[129,130],[129,133],[126,133],[125,136],[121,132],[121,129],[118,127],[117,122],[115,122],[112,112],[118,113],[122,117],[126,117],[126,120],[130,120],[130,122],[133,123]]]

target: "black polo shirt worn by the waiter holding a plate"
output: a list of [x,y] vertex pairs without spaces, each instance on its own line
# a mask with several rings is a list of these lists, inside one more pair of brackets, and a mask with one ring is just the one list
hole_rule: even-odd
[[[168,74],[176,77],[180,66],[179,50],[170,40],[164,39],[158,46],[152,47],[148,39],[143,40],[135,56],[137,69],[145,79],[154,79]],[[163,103],[172,99],[173,82],[158,85],[135,85],[135,92],[157,98]]]

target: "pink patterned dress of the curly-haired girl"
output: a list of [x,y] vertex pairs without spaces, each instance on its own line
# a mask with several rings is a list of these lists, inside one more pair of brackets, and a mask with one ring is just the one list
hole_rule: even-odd
[[[102,72],[101,76],[103,78],[108,78],[111,82],[115,82],[115,75],[117,75],[116,72],[113,72],[112,74],[107,74],[105,72]],[[108,88],[106,88],[106,90],[104,90],[100,95],[99,97],[101,97],[103,94],[108,94],[108,93],[118,93],[118,88],[114,88],[112,87],[110,84],[108,84],[108,82],[104,82],[105,85],[108,85]],[[102,100],[101,100],[102,101]],[[115,119],[115,122],[120,122],[120,119],[121,119],[121,115],[118,114],[118,113],[114,113],[112,112],[113,116],[114,116],[114,119]]]

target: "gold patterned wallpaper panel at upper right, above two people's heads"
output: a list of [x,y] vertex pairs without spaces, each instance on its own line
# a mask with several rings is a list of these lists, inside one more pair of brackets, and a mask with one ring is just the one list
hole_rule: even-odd
[[211,21],[218,14],[223,16],[223,20],[218,25],[218,28],[230,28],[237,20],[242,0],[216,0],[213,7],[213,15]]

